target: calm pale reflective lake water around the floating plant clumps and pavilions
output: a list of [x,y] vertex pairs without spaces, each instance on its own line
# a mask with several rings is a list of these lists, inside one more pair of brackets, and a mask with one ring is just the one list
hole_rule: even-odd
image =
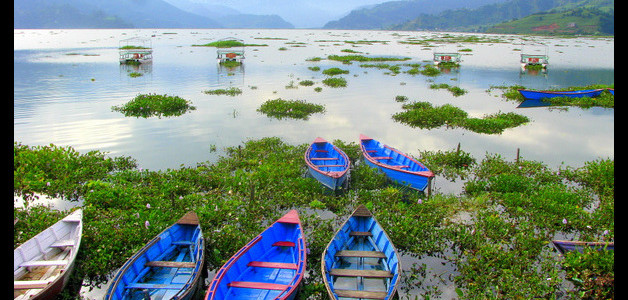
[[[53,143],[72,146],[80,152],[100,150],[110,156],[132,156],[139,167],[151,170],[215,161],[223,154],[224,147],[241,145],[248,139],[278,136],[288,143],[301,144],[321,136],[330,141],[357,143],[360,133],[411,155],[424,150],[452,150],[460,143],[462,150],[478,160],[486,153],[514,160],[520,149],[524,159],[542,161],[552,167],[561,163],[577,167],[585,161],[614,157],[614,109],[517,108],[517,103],[503,100],[500,91],[487,92],[495,85],[547,89],[613,84],[614,39],[479,35],[508,42],[432,43],[437,47],[399,43],[443,35],[265,29],[14,30],[14,141],[31,146]],[[152,37],[152,63],[139,67],[119,64],[119,42],[130,37]],[[268,46],[247,47],[244,65],[234,70],[218,65],[215,48],[192,46],[226,37]],[[345,42],[360,40],[386,43]],[[535,49],[531,41],[548,47]],[[282,47],[286,50],[279,50]],[[471,51],[464,52],[461,67],[437,77],[405,73],[392,76],[383,70],[361,68],[359,63],[306,61],[311,57],[345,55],[341,50],[351,49],[368,56],[410,57],[405,63],[424,64],[431,61],[433,51],[464,48]],[[547,72],[522,73],[519,65],[522,50],[539,54],[547,50],[550,57]],[[342,76],[347,79],[347,87],[324,86],[321,81],[326,76],[321,71],[309,70],[311,66],[319,66],[321,70],[330,67],[349,70],[350,74]],[[132,78],[129,72],[143,76]],[[313,80],[315,85],[298,85],[306,79]],[[454,97],[446,90],[430,89],[433,82],[459,86],[468,93]],[[291,83],[298,88],[286,88]],[[243,93],[235,97],[203,93],[228,87],[238,87]],[[315,92],[315,87],[322,87],[322,91]],[[124,117],[111,110],[112,106],[147,93],[179,96],[191,101],[197,109],[161,119]],[[429,101],[435,106],[449,103],[467,111],[471,117],[515,112],[528,116],[531,122],[499,135],[444,127],[411,128],[391,118],[401,111],[402,104],[395,101],[397,95],[407,96],[409,101]],[[277,120],[256,111],[266,100],[276,98],[322,104],[326,112],[314,114],[309,120]],[[438,177],[434,188],[445,193],[461,192],[460,183],[452,184]],[[435,262],[432,257],[427,259],[431,266],[428,273],[451,274],[451,265]],[[409,266],[417,262],[409,257],[404,260],[408,260]],[[444,298],[455,297],[453,285],[443,290]],[[98,293],[104,290],[96,289],[91,296],[98,298]]]

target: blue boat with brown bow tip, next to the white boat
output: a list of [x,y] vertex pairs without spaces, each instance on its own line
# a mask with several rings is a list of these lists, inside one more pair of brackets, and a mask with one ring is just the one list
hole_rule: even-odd
[[193,299],[204,249],[198,216],[188,212],[126,261],[105,299]]

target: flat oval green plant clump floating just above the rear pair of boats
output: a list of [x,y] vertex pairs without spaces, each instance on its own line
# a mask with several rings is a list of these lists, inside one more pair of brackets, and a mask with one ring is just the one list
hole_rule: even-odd
[[304,100],[283,100],[281,98],[267,100],[257,111],[273,118],[307,120],[311,114],[325,112],[320,104],[307,103]]

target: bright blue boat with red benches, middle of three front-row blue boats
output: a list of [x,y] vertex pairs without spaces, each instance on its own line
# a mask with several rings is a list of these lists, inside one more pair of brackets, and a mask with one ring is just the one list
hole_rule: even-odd
[[294,299],[306,267],[299,214],[291,210],[218,270],[205,300]]

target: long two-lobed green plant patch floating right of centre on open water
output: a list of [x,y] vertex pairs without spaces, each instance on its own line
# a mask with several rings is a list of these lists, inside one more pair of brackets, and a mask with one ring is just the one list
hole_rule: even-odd
[[429,102],[404,104],[403,112],[395,113],[393,120],[412,127],[432,129],[446,125],[462,127],[477,133],[498,134],[505,129],[525,124],[530,120],[515,113],[495,113],[483,118],[469,118],[467,112],[451,104],[434,107]]

